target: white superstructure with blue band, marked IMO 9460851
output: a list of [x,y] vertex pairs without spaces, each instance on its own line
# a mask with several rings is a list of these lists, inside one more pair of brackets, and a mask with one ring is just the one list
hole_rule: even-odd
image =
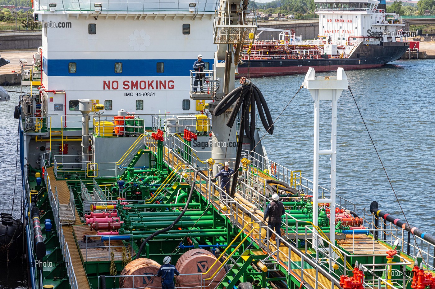
[[213,67],[215,7],[207,0],[35,1],[51,126],[60,127],[62,115],[78,117],[83,98],[104,104],[107,114],[197,112],[189,70],[198,53]]

